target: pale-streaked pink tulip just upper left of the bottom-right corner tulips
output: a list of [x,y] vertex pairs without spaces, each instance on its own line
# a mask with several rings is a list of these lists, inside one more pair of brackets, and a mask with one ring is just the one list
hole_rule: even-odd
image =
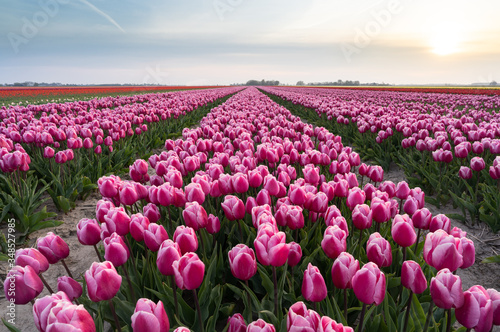
[[444,268],[431,279],[432,300],[442,309],[460,308],[464,303],[462,280]]

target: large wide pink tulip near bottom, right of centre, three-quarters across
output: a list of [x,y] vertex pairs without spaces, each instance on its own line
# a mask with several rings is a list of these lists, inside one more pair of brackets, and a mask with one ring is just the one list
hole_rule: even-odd
[[375,263],[366,263],[352,277],[354,294],[365,304],[379,305],[385,297],[385,275]]

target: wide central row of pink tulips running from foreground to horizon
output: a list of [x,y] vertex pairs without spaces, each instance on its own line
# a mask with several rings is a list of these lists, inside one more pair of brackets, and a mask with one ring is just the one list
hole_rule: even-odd
[[[67,298],[50,291],[34,302],[40,331],[95,331],[103,321],[148,332],[500,324],[500,293],[464,291],[455,274],[474,264],[474,243],[431,215],[420,188],[383,181],[383,169],[361,164],[341,137],[257,89],[215,107],[165,149],[136,160],[132,180],[99,179],[96,218],[82,219],[77,236],[101,262],[76,282],[61,280]],[[30,249],[33,259],[18,258],[8,276],[26,292],[12,298],[6,288],[6,296],[33,301],[43,288],[35,268],[48,265],[38,261],[55,264],[66,247],[53,234],[40,239],[41,255]]]

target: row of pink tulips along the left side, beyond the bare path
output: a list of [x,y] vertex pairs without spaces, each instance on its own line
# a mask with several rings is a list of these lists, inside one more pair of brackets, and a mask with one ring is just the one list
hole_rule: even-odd
[[[54,226],[37,212],[46,191],[67,212],[99,177],[121,172],[169,135],[199,121],[237,88],[108,97],[0,110],[0,204],[23,236]],[[197,112],[193,112],[193,110]],[[30,170],[31,169],[31,170]],[[3,204],[2,204],[3,203]]]

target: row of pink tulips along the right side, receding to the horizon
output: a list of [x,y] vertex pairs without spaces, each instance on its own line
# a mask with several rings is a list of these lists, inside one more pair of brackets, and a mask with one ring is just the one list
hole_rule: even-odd
[[499,96],[264,90],[309,121],[340,133],[385,169],[391,162],[400,165],[412,185],[436,194],[429,198],[434,205],[452,201],[460,207],[462,215],[455,218],[500,229]]

